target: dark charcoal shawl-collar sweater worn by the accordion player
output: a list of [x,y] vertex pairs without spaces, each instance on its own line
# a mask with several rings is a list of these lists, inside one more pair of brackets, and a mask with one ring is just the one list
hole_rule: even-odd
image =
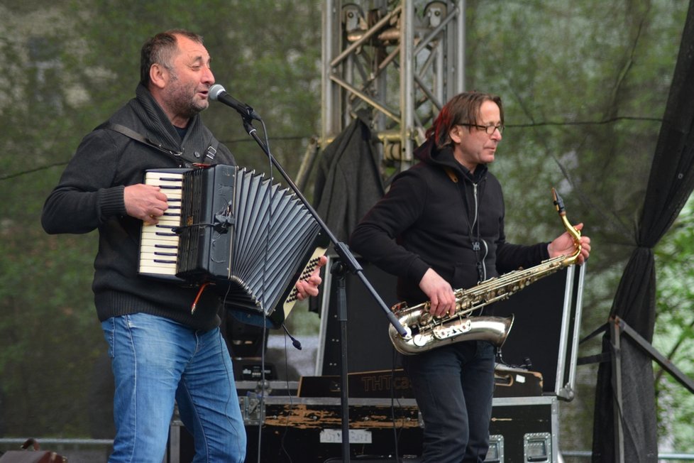
[[103,124],[87,134],[45,202],[43,228],[50,234],[99,230],[92,284],[99,320],[146,312],[194,329],[219,325],[219,300],[213,292],[203,293],[191,315],[197,288],[181,288],[175,283],[138,276],[142,222],[126,214],[123,189],[143,183],[147,169],[202,163],[210,146],[216,146],[216,155],[208,163],[234,165],[231,152],[218,145],[199,116],[189,121],[181,140],[142,85],[136,89],[136,98],[116,111],[108,122],[141,134],[148,143],[106,129]]

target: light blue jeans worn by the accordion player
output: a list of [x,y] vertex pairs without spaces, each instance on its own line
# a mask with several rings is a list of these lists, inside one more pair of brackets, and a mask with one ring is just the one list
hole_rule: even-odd
[[175,402],[194,436],[194,462],[243,462],[246,430],[219,328],[198,332],[143,313],[101,328],[116,381],[109,462],[160,463]]

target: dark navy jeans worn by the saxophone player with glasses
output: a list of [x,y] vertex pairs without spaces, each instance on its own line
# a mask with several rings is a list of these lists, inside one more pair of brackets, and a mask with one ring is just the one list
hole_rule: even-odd
[[495,347],[463,341],[402,363],[424,420],[422,462],[481,463],[489,448]]

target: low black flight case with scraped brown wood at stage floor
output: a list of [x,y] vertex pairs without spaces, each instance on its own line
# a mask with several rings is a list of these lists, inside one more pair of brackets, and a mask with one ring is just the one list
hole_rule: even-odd
[[[260,398],[249,393],[239,401],[248,434],[248,461],[339,461],[340,398]],[[397,447],[400,460],[417,462],[422,423],[414,399],[350,398],[348,405],[351,459],[395,462]],[[556,462],[557,398],[494,398],[490,436],[487,462]]]

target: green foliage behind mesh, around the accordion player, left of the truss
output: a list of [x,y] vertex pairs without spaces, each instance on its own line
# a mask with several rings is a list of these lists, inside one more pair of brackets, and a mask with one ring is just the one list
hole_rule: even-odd
[[[90,290],[97,234],[46,235],[43,201],[82,136],[134,96],[141,44],[168,28],[204,36],[217,81],[263,116],[272,153],[294,174],[320,117],[321,9],[288,0],[38,3],[0,5],[0,435],[109,437],[109,413],[94,413],[110,400],[95,403],[108,375]],[[268,171],[235,111],[213,104],[204,119],[240,163]]]

